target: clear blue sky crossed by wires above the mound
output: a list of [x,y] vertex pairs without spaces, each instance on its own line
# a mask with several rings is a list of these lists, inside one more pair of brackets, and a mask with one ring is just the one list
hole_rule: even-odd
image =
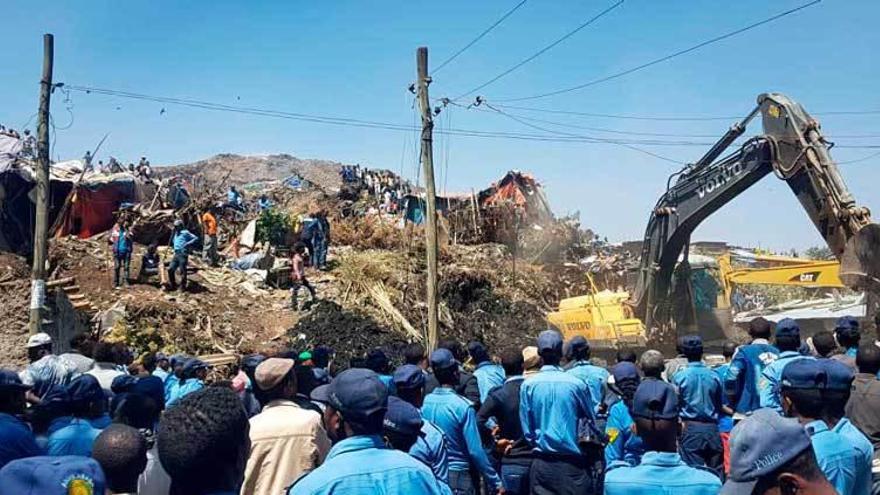
[[[42,40],[55,34],[55,79],[150,95],[289,112],[412,124],[415,49],[432,65],[472,39],[515,0],[4,2],[0,122],[19,127],[37,108]],[[530,0],[434,75],[431,96],[457,96],[573,29],[613,2]],[[589,81],[737,29],[805,0],[626,0],[595,24],[481,91],[490,101]],[[780,91],[809,111],[880,110],[876,47],[880,2],[822,3],[734,38],[582,91],[522,105],[633,115],[740,115],[755,97]],[[403,171],[414,176],[410,132],[339,127],[72,92],[56,93],[54,156],[81,156],[109,132],[103,156],[181,163],[231,153],[285,152]],[[166,112],[160,114],[161,108]],[[511,110],[513,112],[513,110]],[[732,122],[629,121],[517,111],[579,126],[721,136]],[[880,144],[880,114],[821,117],[825,132],[872,135],[840,145]],[[438,127],[536,134],[490,112],[449,108]],[[547,126],[545,126],[547,127]],[[552,127],[552,126],[550,126]],[[564,130],[559,128],[560,130]],[[759,132],[760,126],[753,126]],[[571,130],[567,132],[572,132]],[[590,133],[589,131],[573,131]],[[591,133],[602,137],[610,134]],[[644,137],[642,137],[644,139]],[[664,138],[677,139],[677,138]],[[695,141],[714,141],[699,138]],[[655,146],[696,160],[708,147]],[[876,150],[837,149],[839,161]],[[611,240],[642,236],[648,212],[678,167],[610,144],[438,136],[438,184],[480,188],[508,169],[533,172],[558,213]],[[858,200],[880,214],[880,156],[841,165]],[[872,187],[871,185],[874,185]],[[771,249],[805,248],[821,238],[787,186],[768,177],[696,232]]]

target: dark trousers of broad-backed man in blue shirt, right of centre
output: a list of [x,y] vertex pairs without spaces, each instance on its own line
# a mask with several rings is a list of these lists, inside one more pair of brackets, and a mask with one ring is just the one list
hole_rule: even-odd
[[601,495],[596,493],[591,470],[583,456],[538,456],[529,471],[533,495]]

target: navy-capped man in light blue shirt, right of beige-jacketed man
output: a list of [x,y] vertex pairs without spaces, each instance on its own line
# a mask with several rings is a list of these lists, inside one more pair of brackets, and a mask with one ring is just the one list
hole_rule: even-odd
[[328,434],[336,443],[324,464],[294,482],[290,495],[333,495],[375,491],[384,495],[439,495],[431,470],[382,440],[388,389],[370,370],[343,371],[329,387]]

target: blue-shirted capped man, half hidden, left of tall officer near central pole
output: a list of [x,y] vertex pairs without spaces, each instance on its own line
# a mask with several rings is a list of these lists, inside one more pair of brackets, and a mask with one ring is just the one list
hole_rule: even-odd
[[[404,364],[394,370],[393,380],[397,396],[421,411],[425,401],[425,372],[414,364]],[[446,447],[446,435],[427,419],[422,420],[421,431],[422,434],[408,450],[409,455],[422,461],[441,483],[448,485],[449,449]]]

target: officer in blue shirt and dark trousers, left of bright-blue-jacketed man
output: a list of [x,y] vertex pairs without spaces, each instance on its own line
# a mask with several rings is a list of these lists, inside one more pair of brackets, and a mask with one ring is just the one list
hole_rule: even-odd
[[722,413],[721,379],[703,363],[703,339],[687,335],[678,346],[688,363],[672,377],[680,397],[681,458],[689,466],[706,466],[720,478],[724,449],[718,432]]

